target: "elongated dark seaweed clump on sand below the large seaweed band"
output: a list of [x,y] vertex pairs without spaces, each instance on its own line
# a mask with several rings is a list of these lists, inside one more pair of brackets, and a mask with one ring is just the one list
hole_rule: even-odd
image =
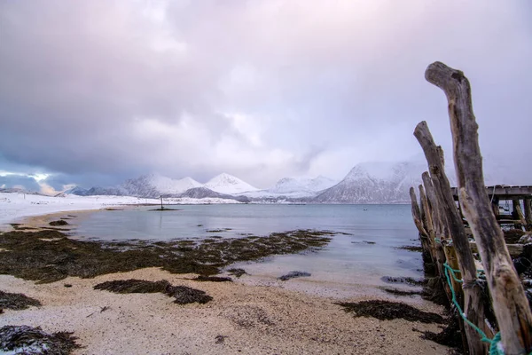
[[146,280],[114,280],[98,283],[94,289],[103,289],[117,294],[153,294],[161,293],[170,297],[175,297],[175,304],[207,304],[213,297],[208,296],[205,291],[186,286],[172,286],[167,280],[146,281]]

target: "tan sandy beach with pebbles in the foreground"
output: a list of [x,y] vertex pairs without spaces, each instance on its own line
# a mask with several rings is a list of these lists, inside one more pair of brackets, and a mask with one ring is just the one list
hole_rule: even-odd
[[[60,211],[23,221],[27,226],[43,227],[51,219],[94,210]],[[28,325],[50,333],[74,331],[83,347],[74,354],[388,354],[399,348],[401,352],[449,353],[450,348],[420,338],[420,331],[439,332],[438,325],[354,318],[335,304],[339,297],[292,288],[299,280],[286,281],[282,286],[249,275],[235,282],[187,280],[195,276],[150,267],[37,284],[0,275],[2,291],[23,293],[43,303],[23,311],[4,310],[0,327]],[[173,285],[206,291],[214,300],[180,306],[160,294],[117,295],[93,289],[103,281],[127,279],[168,280]],[[360,294],[340,297],[345,302],[390,298]],[[418,299],[402,297],[396,301],[422,311],[443,312],[441,306]],[[101,312],[103,307],[108,307],[105,312]]]

